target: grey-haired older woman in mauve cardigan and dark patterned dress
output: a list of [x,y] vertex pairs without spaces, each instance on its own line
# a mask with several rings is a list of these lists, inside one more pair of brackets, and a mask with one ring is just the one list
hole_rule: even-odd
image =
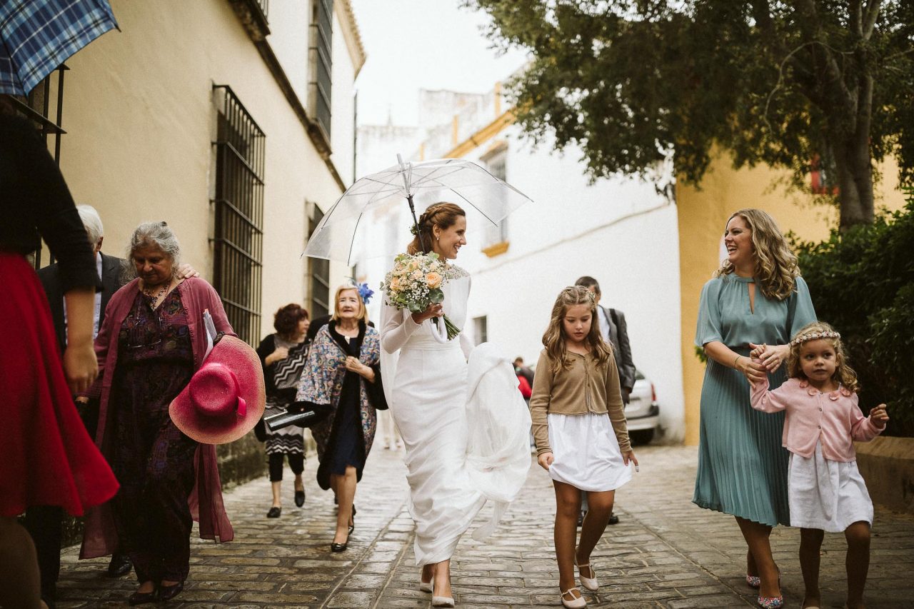
[[81,558],[110,553],[122,541],[140,582],[130,604],[174,598],[184,588],[190,532],[230,541],[216,448],[182,433],[168,415],[207,353],[204,312],[216,330],[234,336],[213,287],[179,279],[181,250],[165,222],[133,231],[128,259],[136,278],[112,295],[95,341],[101,447],[121,490],[90,512]]

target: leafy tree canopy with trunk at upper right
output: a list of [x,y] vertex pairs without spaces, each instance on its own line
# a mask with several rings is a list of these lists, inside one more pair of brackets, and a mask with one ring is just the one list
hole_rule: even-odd
[[534,139],[579,144],[590,176],[675,151],[697,184],[712,146],[808,179],[834,167],[842,228],[873,219],[873,161],[914,182],[910,0],[464,0],[532,62],[507,91]]

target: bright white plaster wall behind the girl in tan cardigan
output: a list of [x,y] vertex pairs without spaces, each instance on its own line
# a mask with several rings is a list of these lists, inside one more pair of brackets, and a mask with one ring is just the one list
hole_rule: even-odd
[[577,151],[534,150],[518,141],[516,130],[506,130],[507,179],[535,203],[510,216],[509,249],[494,258],[480,251],[482,222],[471,219],[470,243],[457,261],[473,273],[470,317],[486,315],[490,341],[512,358],[536,363],[558,292],[581,275],[593,276],[603,293],[600,304],[625,313],[632,359],[654,382],[665,438],[681,440],[675,205],[637,180],[589,185]]

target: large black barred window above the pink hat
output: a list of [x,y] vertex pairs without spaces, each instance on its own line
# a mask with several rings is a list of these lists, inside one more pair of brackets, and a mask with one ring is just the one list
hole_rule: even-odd
[[260,341],[266,136],[228,85],[214,85],[213,92],[218,108],[213,287],[235,332],[256,345]]

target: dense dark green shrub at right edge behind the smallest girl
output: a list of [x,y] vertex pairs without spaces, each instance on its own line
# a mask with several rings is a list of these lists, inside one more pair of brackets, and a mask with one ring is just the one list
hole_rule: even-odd
[[862,387],[866,414],[887,403],[887,434],[914,436],[914,190],[871,225],[793,240],[816,316],[833,325]]

